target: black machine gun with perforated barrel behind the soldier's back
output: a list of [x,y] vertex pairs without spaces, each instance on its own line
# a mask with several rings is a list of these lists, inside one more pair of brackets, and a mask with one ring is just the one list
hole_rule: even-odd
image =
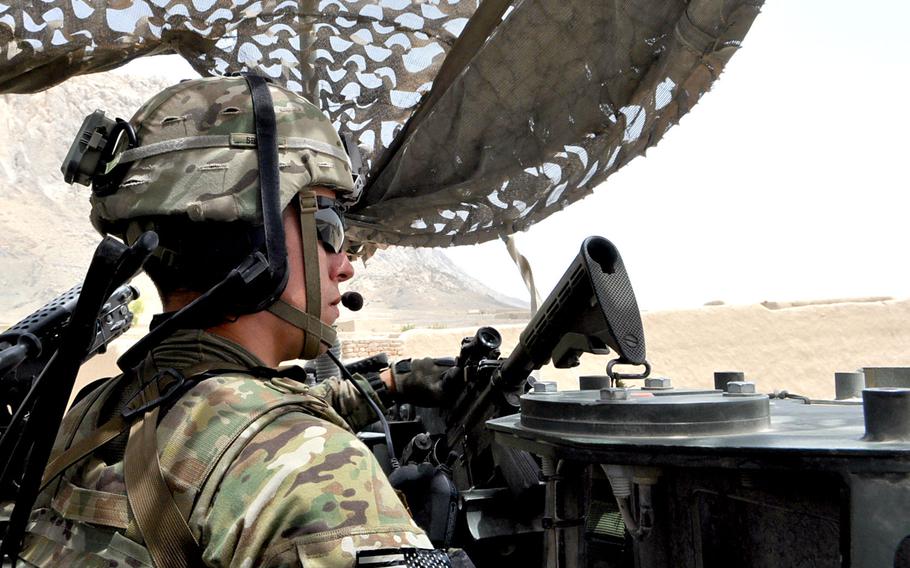
[[[81,284],[70,288],[0,334],[0,434],[60,348],[81,291]],[[111,294],[95,321],[95,335],[82,362],[104,353],[111,341],[130,328],[133,313],[129,303],[138,297],[139,292],[129,285]]]

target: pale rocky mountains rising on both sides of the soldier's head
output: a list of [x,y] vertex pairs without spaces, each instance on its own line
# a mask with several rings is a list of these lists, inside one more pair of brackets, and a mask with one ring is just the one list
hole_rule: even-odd
[[[83,118],[96,109],[128,118],[166,85],[102,73],[42,93],[0,95],[0,323],[17,321],[81,281],[99,242],[88,222],[88,188],[67,185],[60,173]],[[387,249],[367,269],[357,268],[349,287],[367,298],[370,317],[405,309],[442,321],[522,305],[465,275],[440,250]]]

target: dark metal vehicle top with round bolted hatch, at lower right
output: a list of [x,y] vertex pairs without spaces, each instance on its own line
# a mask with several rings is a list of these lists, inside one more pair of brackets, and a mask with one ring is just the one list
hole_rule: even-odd
[[[910,413],[894,410],[910,390],[867,389],[865,409],[627,395],[528,393],[520,415],[487,422],[496,443],[540,456],[552,474],[547,566],[906,565]],[[896,404],[873,408],[882,397]]]

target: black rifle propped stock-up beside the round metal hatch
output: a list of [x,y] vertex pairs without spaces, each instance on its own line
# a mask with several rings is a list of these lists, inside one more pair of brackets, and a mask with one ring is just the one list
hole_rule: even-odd
[[448,447],[461,456],[453,472],[459,488],[478,486],[492,475],[494,462],[513,489],[515,483],[530,483],[522,460],[515,463],[510,454],[504,464],[502,454],[491,455],[492,435],[484,423],[517,412],[528,377],[551,359],[556,367],[574,367],[582,353],[607,354],[610,349],[619,363],[646,363],[641,315],[619,251],[607,239],[589,237],[511,355],[482,361],[467,373],[446,419]]

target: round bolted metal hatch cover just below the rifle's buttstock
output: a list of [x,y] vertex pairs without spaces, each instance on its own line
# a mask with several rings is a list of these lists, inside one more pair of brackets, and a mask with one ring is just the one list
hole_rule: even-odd
[[529,393],[521,397],[521,425],[582,436],[705,436],[746,434],[771,425],[767,395],[631,391],[626,400],[601,400],[600,391]]

